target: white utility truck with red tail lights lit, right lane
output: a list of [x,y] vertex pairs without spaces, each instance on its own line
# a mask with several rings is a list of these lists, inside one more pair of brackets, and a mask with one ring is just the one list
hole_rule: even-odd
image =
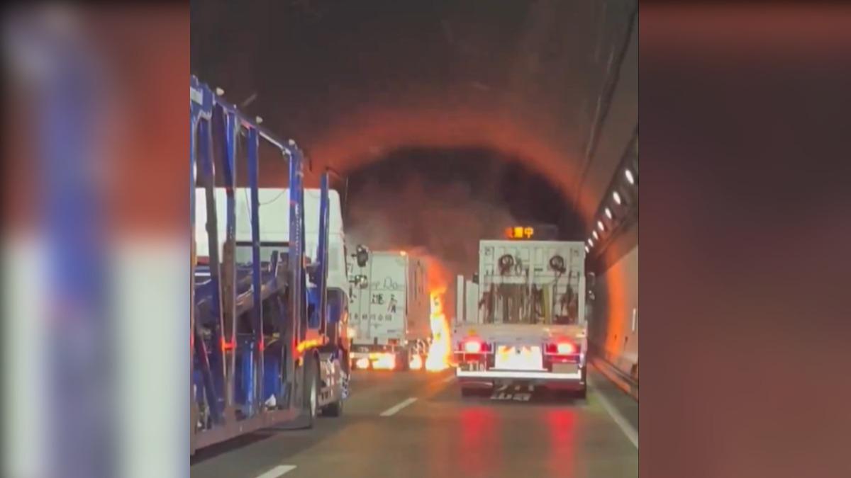
[[458,285],[477,307],[464,306],[452,329],[462,395],[525,383],[584,397],[585,243],[484,240],[478,269],[477,284]]

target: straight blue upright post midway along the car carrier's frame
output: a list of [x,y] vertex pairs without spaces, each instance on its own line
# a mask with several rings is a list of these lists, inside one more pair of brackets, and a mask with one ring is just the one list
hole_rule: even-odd
[[263,386],[263,300],[260,286],[260,135],[248,128],[248,185],[251,191],[251,276],[254,293],[254,410],[260,409]]

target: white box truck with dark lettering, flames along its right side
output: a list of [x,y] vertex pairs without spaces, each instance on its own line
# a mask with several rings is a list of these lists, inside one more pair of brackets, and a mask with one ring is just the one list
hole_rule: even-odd
[[426,261],[405,252],[372,252],[352,274],[368,277],[349,304],[352,367],[421,368],[431,337]]

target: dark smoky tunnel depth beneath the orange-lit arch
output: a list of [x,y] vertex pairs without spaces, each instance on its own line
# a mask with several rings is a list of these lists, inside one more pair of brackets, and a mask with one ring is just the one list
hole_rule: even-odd
[[406,146],[346,171],[346,234],[375,250],[422,250],[447,272],[477,270],[480,239],[554,225],[580,240],[580,215],[526,158],[487,146]]

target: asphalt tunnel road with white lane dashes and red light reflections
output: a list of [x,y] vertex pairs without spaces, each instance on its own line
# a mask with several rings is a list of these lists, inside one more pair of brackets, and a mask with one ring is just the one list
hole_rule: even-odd
[[342,417],[201,450],[191,476],[638,476],[637,420],[595,373],[581,401],[525,388],[462,399],[450,372],[361,372]]

